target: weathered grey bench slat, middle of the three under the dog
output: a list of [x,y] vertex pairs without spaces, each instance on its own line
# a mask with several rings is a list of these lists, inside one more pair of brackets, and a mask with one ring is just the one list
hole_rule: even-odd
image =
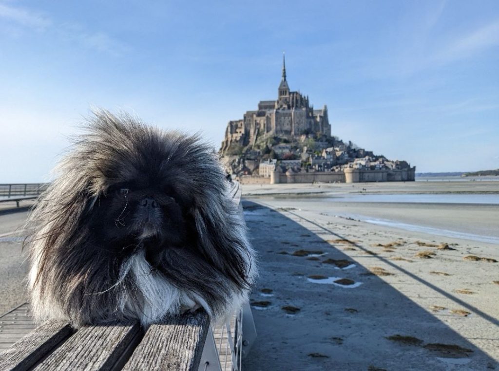
[[84,326],[35,370],[111,370],[140,325]]

